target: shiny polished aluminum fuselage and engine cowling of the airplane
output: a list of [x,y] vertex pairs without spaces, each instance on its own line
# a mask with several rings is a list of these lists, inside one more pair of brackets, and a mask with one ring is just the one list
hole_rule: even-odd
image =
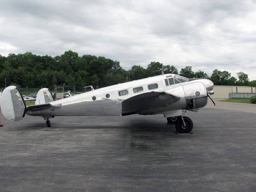
[[[147,92],[167,92],[180,96],[176,102],[166,104],[166,106],[156,107],[138,114],[157,114],[172,110],[190,110],[189,105],[195,102],[193,108],[204,107],[207,104],[207,90],[213,89],[210,80],[200,79],[191,82],[183,82],[166,86],[164,79],[166,76],[174,74],[164,74],[132,82],[126,82],[105,88],[100,88],[70,98],[50,102],[50,107],[38,110],[27,110],[26,114],[32,116],[121,116],[126,109],[122,108],[122,102],[133,96]],[[158,84],[158,88],[149,90],[148,85]],[[134,93],[133,89],[143,87],[143,92]],[[120,96],[119,91],[128,90],[128,94]],[[200,92],[197,96],[195,92]],[[126,112],[129,113],[129,112]]]

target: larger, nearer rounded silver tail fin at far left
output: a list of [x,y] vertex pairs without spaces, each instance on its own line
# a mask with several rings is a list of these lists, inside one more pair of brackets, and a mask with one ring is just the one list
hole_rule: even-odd
[[0,106],[4,117],[11,121],[21,120],[26,114],[26,103],[16,86],[8,86],[4,89]]

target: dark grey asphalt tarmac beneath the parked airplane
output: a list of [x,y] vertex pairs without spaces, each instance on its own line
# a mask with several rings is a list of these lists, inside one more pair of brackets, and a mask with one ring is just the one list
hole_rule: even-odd
[[208,106],[185,116],[193,134],[162,115],[55,117],[48,128],[0,114],[0,191],[255,192],[255,113]]

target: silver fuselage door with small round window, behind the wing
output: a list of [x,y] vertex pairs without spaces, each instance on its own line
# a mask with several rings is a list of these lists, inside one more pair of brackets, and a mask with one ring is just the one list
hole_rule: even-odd
[[116,91],[113,88],[106,88],[101,90],[100,96],[102,98],[102,106],[106,116],[120,116],[121,111],[118,107]]

